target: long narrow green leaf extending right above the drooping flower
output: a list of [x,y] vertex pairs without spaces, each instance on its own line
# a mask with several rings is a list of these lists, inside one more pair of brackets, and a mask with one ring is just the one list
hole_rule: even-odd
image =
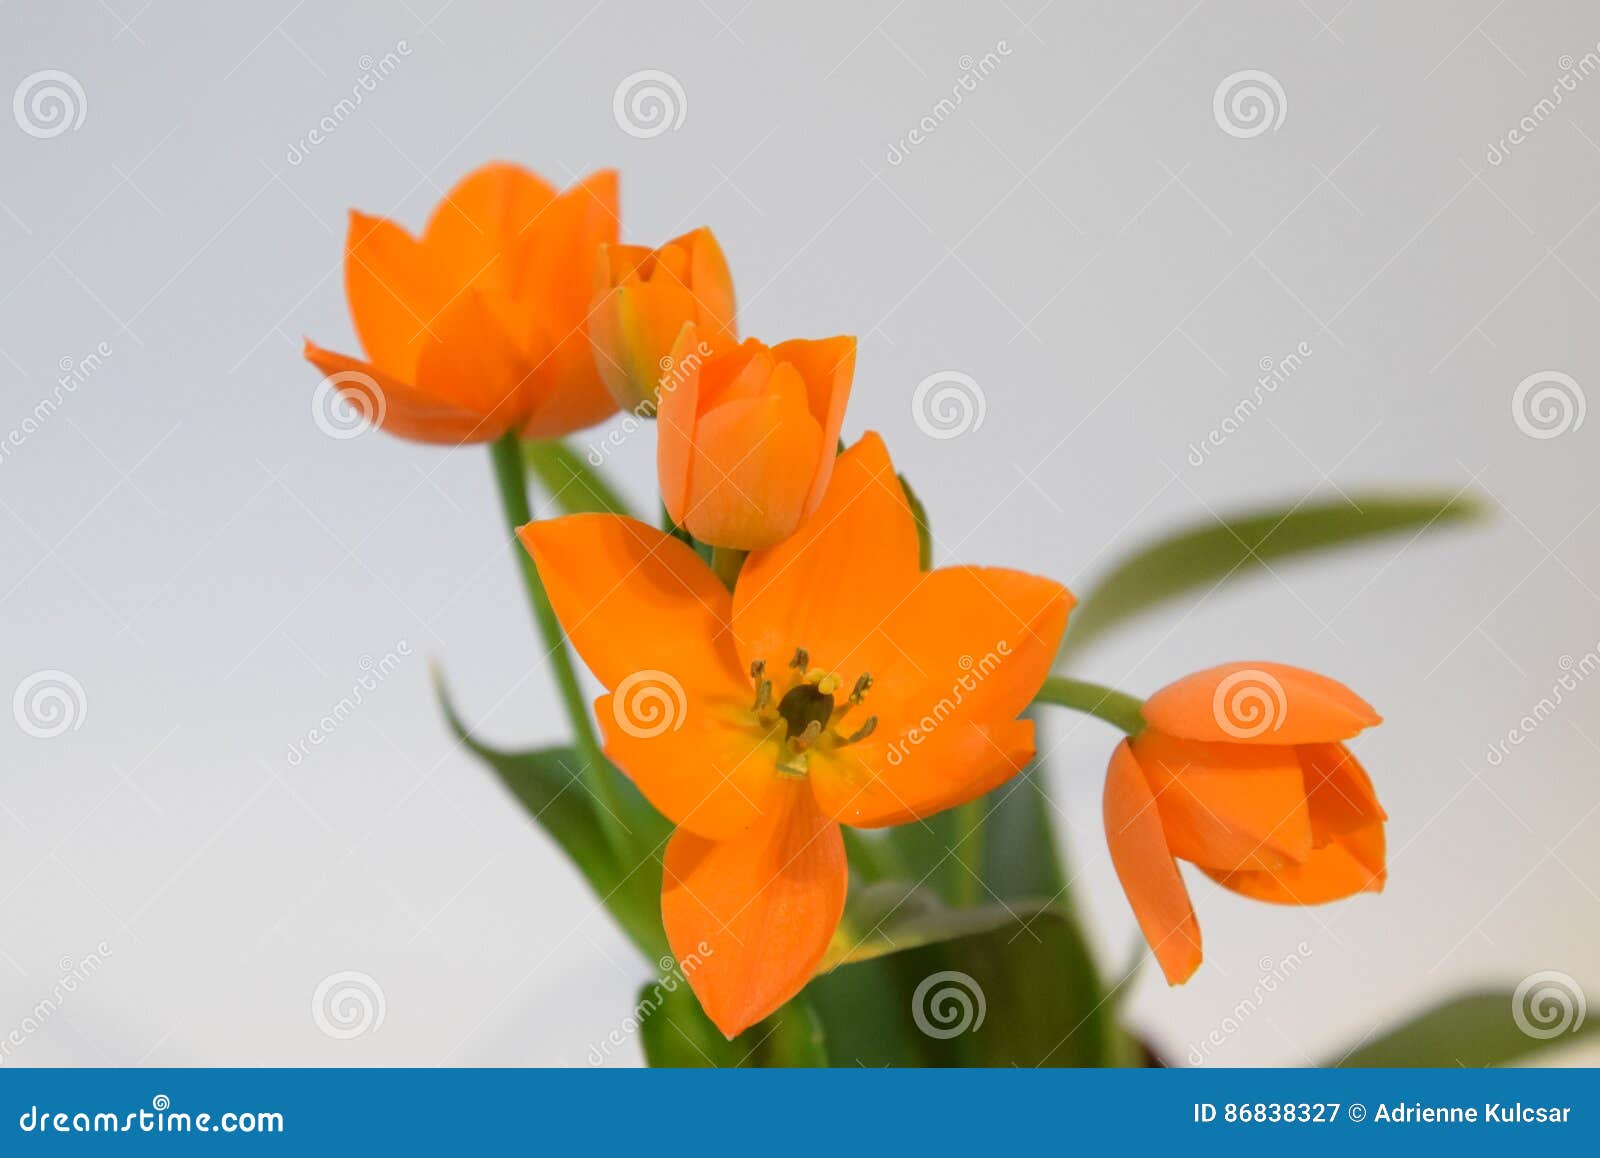
[[1094,584],[1072,614],[1067,648],[1198,587],[1221,584],[1253,566],[1384,534],[1422,531],[1470,518],[1478,505],[1459,493],[1354,494],[1227,518],[1206,518],[1139,547]]

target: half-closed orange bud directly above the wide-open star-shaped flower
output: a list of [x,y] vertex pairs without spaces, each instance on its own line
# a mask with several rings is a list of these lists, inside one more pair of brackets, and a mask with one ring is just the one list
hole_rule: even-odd
[[856,339],[747,339],[701,358],[683,328],[662,384],[656,473],[672,521],[714,547],[794,534],[822,501],[856,373]]

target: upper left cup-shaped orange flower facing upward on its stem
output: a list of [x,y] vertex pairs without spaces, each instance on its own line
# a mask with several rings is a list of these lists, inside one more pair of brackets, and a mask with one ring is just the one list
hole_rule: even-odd
[[350,213],[344,291],[368,361],[306,358],[374,425],[427,443],[554,438],[616,409],[589,350],[616,173],[566,192],[507,163],[450,190],[421,238]]

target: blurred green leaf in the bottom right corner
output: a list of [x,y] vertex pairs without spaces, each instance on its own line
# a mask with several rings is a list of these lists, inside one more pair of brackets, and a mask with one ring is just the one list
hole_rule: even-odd
[[[1541,1049],[1587,1038],[1600,1022],[1584,1022],[1554,1038],[1530,1036],[1512,1011],[1509,992],[1467,993],[1418,1014],[1381,1038],[1363,1041],[1330,1065],[1342,1067],[1485,1067],[1509,1065]],[[1539,1028],[1539,1024],[1534,1024]]]

